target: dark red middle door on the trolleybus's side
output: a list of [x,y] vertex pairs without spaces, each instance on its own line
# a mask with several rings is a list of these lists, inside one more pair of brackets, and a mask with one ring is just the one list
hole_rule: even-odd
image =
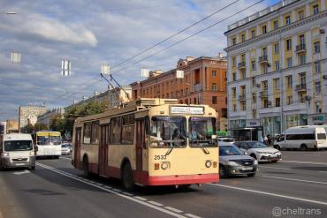
[[106,169],[108,166],[108,139],[109,125],[101,126],[101,137],[99,146],[99,175],[106,176]]

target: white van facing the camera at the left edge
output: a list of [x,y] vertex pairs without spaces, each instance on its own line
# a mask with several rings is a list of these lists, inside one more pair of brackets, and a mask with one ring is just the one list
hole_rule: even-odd
[[0,139],[0,168],[35,169],[35,152],[30,134],[4,134]]

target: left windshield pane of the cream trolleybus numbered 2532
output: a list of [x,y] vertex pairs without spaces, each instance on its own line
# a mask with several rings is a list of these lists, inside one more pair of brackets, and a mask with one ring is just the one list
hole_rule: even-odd
[[185,117],[152,117],[150,147],[186,146]]

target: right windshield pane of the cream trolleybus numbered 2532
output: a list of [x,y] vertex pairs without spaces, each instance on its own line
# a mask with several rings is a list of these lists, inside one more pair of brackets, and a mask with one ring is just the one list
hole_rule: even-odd
[[217,147],[216,119],[213,117],[190,117],[189,139],[191,147]]

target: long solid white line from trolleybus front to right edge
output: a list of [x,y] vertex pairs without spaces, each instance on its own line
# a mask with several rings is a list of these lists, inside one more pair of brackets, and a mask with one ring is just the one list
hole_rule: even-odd
[[278,197],[278,198],[283,198],[283,199],[295,199],[295,200],[299,200],[299,201],[303,201],[303,202],[327,206],[327,202],[314,200],[314,199],[302,199],[302,198],[297,198],[297,197],[293,197],[293,196],[289,196],[289,195],[276,194],[276,193],[272,193],[272,192],[256,191],[256,190],[252,190],[252,189],[239,188],[239,187],[234,187],[234,186],[224,185],[224,184],[209,184],[209,185],[215,185],[215,186],[219,186],[219,187],[223,187],[223,188],[227,188],[227,189],[234,189],[234,190],[239,190],[239,191],[244,191],[244,192],[253,192],[253,193],[257,193],[257,194],[268,195],[268,196],[273,196],[273,197]]

